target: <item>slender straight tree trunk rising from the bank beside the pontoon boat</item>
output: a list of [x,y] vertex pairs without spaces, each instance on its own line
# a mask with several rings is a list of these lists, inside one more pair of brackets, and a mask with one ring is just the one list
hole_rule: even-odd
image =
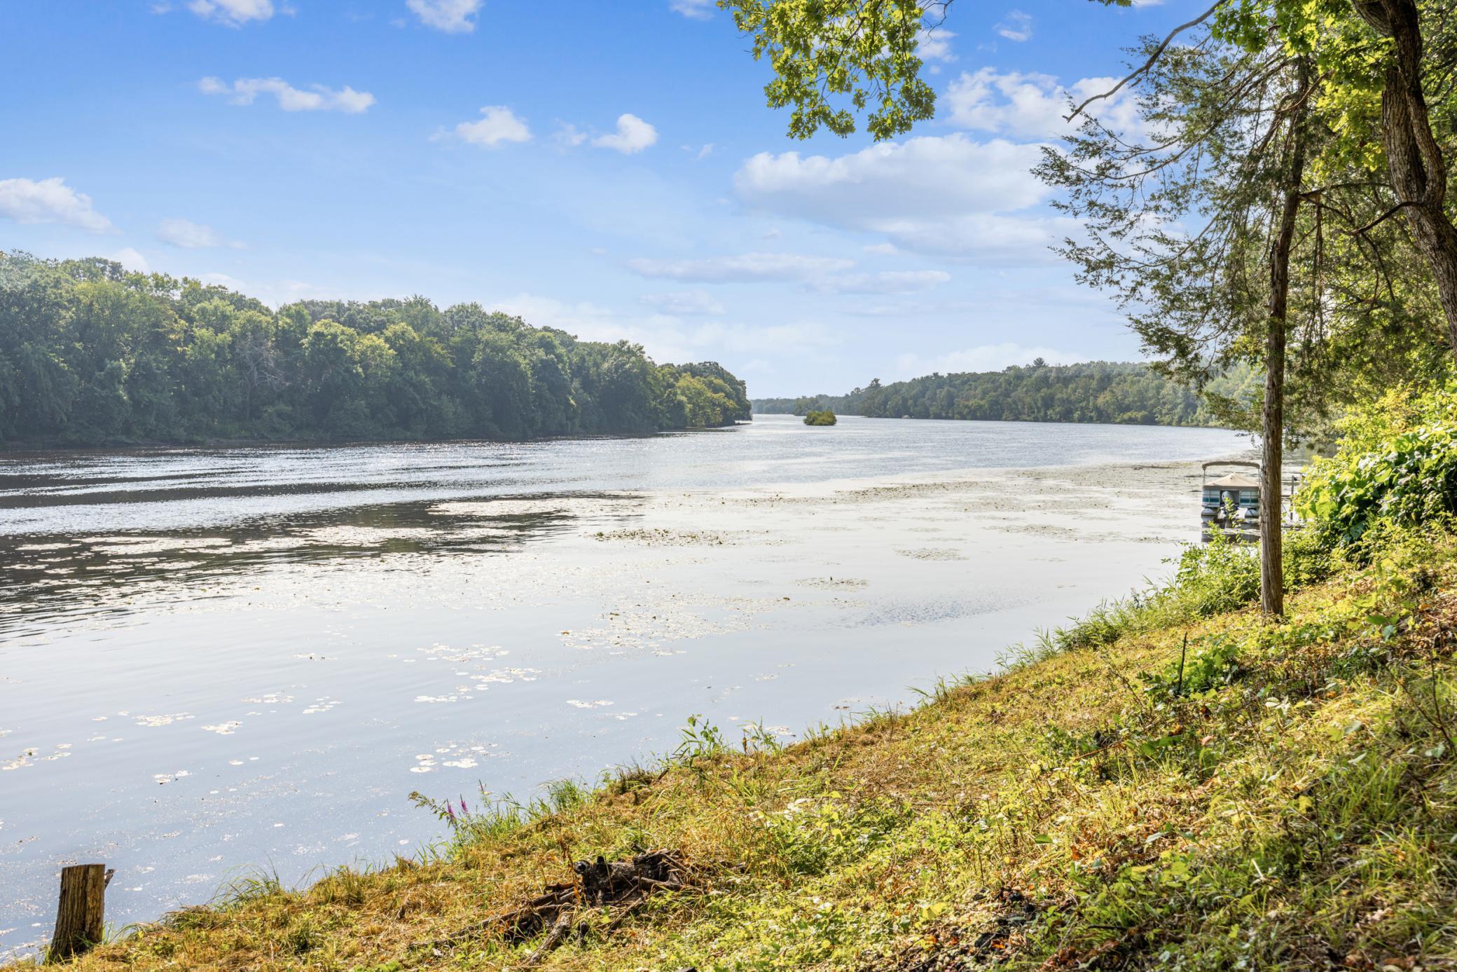
[[1260,428],[1260,609],[1279,618],[1285,614],[1284,535],[1281,533],[1281,469],[1285,465],[1285,337],[1289,316],[1289,251],[1300,216],[1300,188],[1305,178],[1305,96],[1310,66],[1295,68],[1298,83],[1291,98],[1288,162],[1284,205],[1271,245],[1271,305],[1265,331],[1265,408]]

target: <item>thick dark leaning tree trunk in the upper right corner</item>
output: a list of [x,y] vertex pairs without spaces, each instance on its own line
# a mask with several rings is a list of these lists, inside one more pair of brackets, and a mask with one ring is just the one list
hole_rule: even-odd
[[1352,0],[1375,31],[1391,38],[1381,87],[1381,144],[1387,176],[1406,213],[1416,248],[1432,268],[1457,356],[1457,227],[1444,208],[1447,160],[1432,134],[1422,92],[1422,20],[1416,0]]

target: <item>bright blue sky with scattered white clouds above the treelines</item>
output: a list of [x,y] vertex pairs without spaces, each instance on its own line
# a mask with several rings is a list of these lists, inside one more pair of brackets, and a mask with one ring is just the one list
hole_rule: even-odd
[[787,138],[704,0],[3,3],[0,248],[478,300],[753,395],[1135,358],[1027,166],[1190,9],[962,0],[937,118],[874,146]]

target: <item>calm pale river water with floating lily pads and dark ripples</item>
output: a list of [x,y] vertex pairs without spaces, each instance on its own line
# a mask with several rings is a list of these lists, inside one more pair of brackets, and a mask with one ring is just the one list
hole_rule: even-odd
[[533,444],[0,453],[0,956],[415,853],[411,806],[793,739],[1167,570],[1203,428],[847,418]]

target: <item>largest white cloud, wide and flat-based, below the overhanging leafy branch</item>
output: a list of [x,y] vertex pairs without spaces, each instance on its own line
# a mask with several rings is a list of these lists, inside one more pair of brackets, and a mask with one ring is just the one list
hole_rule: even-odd
[[883,143],[829,159],[759,153],[734,173],[749,207],[889,238],[902,249],[1040,262],[1071,220],[1021,214],[1048,189],[1030,169],[1040,146],[962,134]]

